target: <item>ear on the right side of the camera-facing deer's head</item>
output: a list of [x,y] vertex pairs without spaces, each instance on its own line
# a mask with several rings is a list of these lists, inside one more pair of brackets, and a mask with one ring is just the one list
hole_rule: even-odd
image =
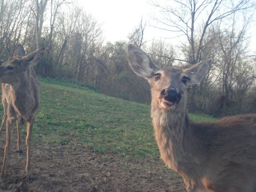
[[211,59],[207,59],[187,69],[183,69],[183,73],[188,74],[191,84],[197,84],[203,80],[207,70],[211,65]]

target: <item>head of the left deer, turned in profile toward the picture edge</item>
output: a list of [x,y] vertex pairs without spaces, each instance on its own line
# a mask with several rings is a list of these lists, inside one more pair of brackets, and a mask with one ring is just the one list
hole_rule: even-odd
[[44,50],[45,48],[41,48],[25,56],[23,46],[17,45],[13,57],[0,66],[0,82],[15,84],[22,81],[28,69],[40,61]]

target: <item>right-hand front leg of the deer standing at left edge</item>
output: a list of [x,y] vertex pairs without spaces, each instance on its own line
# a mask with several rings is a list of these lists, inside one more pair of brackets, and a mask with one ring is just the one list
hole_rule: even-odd
[[30,117],[27,123],[27,138],[26,138],[26,146],[27,146],[27,165],[26,165],[26,178],[28,180],[33,180],[32,174],[30,171],[30,150],[32,143],[32,127],[33,127],[34,117]]

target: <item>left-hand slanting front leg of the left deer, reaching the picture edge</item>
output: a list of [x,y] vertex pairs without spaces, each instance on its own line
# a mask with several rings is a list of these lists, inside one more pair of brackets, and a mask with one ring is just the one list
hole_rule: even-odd
[[14,123],[14,119],[8,119],[6,123],[6,143],[5,143],[4,160],[3,160],[2,170],[0,174],[1,182],[3,182],[5,179],[5,167],[7,165],[7,159],[10,152],[13,123]]

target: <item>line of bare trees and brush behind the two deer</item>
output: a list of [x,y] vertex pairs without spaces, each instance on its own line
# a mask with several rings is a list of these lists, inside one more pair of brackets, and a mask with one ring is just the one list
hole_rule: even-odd
[[36,67],[38,75],[92,84],[104,94],[149,103],[146,80],[127,64],[129,42],[141,47],[160,67],[187,67],[212,58],[203,82],[188,90],[189,110],[212,116],[255,113],[256,56],[249,52],[247,33],[253,22],[252,3],[152,2],[161,13],[155,15],[155,27],[183,37],[172,45],[166,39],[145,39],[148,25],[143,20],[127,32],[127,39],[107,42],[95,17],[73,1],[1,0],[0,59],[12,56],[17,44],[27,52],[46,47]]

